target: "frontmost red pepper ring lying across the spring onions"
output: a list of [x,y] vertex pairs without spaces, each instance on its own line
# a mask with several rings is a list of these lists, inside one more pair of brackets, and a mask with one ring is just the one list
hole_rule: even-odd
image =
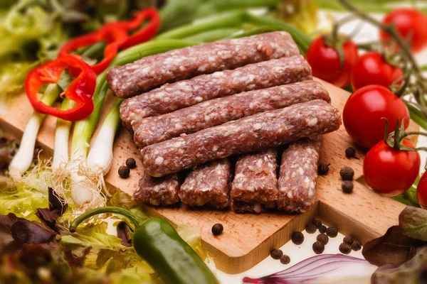
[[[44,84],[58,82],[63,70],[73,67],[79,70],[79,75],[70,83],[65,91],[65,97],[76,103],[68,110],[60,110],[48,106],[38,100],[38,90]],[[96,74],[90,65],[72,55],[63,55],[60,58],[47,62],[31,70],[25,80],[25,92],[33,109],[41,114],[50,114],[67,121],[79,121],[87,118],[93,111],[93,92],[95,92]]]

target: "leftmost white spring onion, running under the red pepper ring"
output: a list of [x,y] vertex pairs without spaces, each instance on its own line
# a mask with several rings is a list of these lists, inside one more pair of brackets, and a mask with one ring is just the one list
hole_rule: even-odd
[[[43,97],[41,97],[41,102],[47,105],[52,105],[56,99],[58,99],[59,94],[60,87],[57,84],[49,84],[46,92],[43,94]],[[30,168],[31,163],[33,162],[38,130],[40,129],[45,117],[46,115],[38,114],[36,111],[33,111],[33,114],[31,114],[30,119],[26,124],[26,128],[23,131],[21,146],[9,165],[9,174],[12,178],[21,178],[23,173]]]

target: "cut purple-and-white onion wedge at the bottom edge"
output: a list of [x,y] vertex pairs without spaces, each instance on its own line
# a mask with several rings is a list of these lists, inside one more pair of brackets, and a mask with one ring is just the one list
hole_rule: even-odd
[[371,275],[376,268],[362,258],[320,254],[262,278],[245,277],[243,283],[371,283]]

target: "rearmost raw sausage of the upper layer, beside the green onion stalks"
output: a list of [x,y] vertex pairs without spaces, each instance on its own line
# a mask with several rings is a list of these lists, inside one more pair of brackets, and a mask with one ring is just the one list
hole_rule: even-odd
[[171,50],[112,67],[107,82],[117,97],[127,98],[164,83],[297,54],[300,50],[289,33],[263,33]]

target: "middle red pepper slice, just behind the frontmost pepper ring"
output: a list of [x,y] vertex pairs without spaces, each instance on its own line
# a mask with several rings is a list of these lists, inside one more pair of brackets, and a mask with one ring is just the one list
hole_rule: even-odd
[[[101,62],[92,66],[93,71],[95,71],[96,74],[100,74],[102,71],[107,69],[108,65],[110,65],[111,61],[117,54],[120,46],[126,42],[127,38],[127,32],[123,28],[106,25],[99,31],[88,33],[87,35],[82,35],[78,38],[73,38],[72,40],[65,43],[63,47],[60,48],[59,57],[63,55],[69,55],[78,48],[93,45],[104,40],[107,43],[107,46],[104,50],[104,58],[101,60]],[[70,69],[69,72],[74,77],[78,75],[76,70]]]

